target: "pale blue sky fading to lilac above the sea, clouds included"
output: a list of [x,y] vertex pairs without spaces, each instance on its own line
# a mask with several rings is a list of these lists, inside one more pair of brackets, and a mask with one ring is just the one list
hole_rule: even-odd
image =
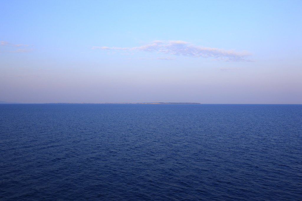
[[0,101],[302,104],[302,1],[0,8]]

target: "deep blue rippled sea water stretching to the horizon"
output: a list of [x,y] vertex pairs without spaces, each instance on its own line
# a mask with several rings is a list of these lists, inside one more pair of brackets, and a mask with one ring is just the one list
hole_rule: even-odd
[[302,199],[302,105],[0,104],[0,200],[237,199]]

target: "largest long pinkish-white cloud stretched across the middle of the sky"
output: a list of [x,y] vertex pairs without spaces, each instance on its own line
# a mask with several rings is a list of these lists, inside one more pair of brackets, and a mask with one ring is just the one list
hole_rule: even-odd
[[93,46],[92,49],[159,52],[170,55],[183,55],[188,57],[212,57],[223,61],[249,61],[248,59],[246,59],[246,57],[251,55],[249,52],[236,52],[234,50],[195,46],[189,42],[180,40],[154,41],[144,46],[131,48]]

